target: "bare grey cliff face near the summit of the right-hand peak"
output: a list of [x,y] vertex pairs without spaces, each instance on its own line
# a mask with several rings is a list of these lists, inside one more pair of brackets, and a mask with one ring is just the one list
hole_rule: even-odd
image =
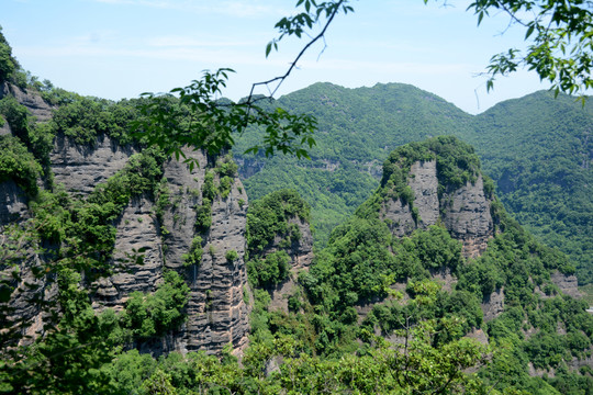
[[[393,235],[406,236],[440,221],[454,238],[462,241],[466,257],[477,257],[485,250],[494,235],[494,225],[481,176],[475,182],[467,182],[439,196],[436,160],[416,161],[410,168],[407,185],[414,192],[412,204],[401,199],[382,204],[381,218],[389,219]],[[416,218],[412,207],[417,210]]]

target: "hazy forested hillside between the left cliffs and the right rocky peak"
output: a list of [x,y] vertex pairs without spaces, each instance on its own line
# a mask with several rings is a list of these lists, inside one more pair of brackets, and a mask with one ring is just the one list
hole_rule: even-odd
[[245,156],[257,135],[251,131],[233,149],[239,172],[251,199],[280,188],[298,190],[312,205],[318,246],[377,187],[381,165],[391,150],[430,136],[471,131],[470,115],[401,83],[358,89],[315,83],[271,105],[316,116],[317,145],[311,149],[312,160]]

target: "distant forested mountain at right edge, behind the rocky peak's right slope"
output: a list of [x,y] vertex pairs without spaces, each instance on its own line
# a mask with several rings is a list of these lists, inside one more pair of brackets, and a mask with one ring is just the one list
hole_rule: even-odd
[[593,102],[537,92],[500,103],[463,136],[496,180],[505,206],[593,282]]

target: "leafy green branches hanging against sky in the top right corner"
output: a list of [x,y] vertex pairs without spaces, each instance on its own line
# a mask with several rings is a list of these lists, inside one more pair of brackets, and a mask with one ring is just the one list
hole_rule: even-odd
[[526,30],[525,41],[532,40],[525,50],[511,48],[491,58],[489,91],[496,76],[526,67],[549,81],[556,95],[578,93],[584,101],[584,92],[593,88],[593,1],[478,0],[470,9],[478,15],[478,25],[490,10],[502,10],[512,24]]

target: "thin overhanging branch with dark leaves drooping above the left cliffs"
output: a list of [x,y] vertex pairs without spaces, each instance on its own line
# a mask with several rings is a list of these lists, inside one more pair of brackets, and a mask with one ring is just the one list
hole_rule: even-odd
[[[220,99],[228,75],[234,72],[230,68],[204,71],[202,79],[193,80],[184,88],[175,88],[166,94],[143,93],[138,106],[142,119],[133,125],[136,137],[148,145],[164,148],[167,155],[175,155],[177,160],[183,158],[191,170],[198,162],[188,158],[182,147],[191,146],[195,150],[203,149],[214,155],[230,148],[235,143],[234,135],[242,135],[249,126],[260,127],[265,134],[261,144],[248,148],[246,153],[257,154],[261,150],[269,157],[279,151],[298,158],[310,158],[307,149],[315,145],[315,119],[290,114],[279,108],[270,111],[258,103],[264,99],[271,102],[280,84],[290,76],[304,53],[325,36],[339,12],[346,14],[354,11],[347,2],[299,0],[296,7],[303,7],[304,11],[283,18],[276,24],[280,35],[268,43],[266,56],[269,56],[272,48],[278,49],[282,38],[291,35],[300,38],[325,18],[322,30],[300,50],[282,76],[254,83],[249,95],[238,103]],[[268,87],[275,82],[276,87],[268,97],[255,94],[257,87]]]

